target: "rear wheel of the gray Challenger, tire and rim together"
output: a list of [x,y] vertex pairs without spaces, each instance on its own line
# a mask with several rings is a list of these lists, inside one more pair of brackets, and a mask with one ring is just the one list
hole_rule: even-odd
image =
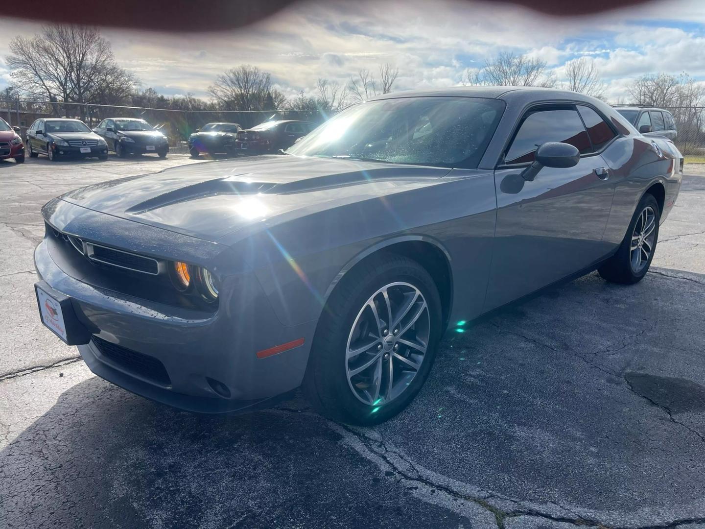
[[598,269],[599,274],[613,283],[641,281],[654,258],[660,219],[658,202],[647,193],[639,201],[619,250]]

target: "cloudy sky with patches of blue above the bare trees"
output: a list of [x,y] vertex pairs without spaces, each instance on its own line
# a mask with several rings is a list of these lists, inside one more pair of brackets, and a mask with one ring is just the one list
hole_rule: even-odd
[[[12,83],[4,58],[13,35],[33,23],[0,17],[0,88]],[[245,30],[179,34],[104,30],[118,63],[166,95],[207,87],[226,68],[269,71],[283,92],[309,91],[317,78],[347,83],[360,68],[399,68],[396,90],[460,84],[500,51],[546,61],[563,78],[567,61],[594,60],[612,102],[645,73],[687,72],[705,83],[705,1],[656,0],[597,16],[553,18],[511,4],[377,0],[301,2]]]

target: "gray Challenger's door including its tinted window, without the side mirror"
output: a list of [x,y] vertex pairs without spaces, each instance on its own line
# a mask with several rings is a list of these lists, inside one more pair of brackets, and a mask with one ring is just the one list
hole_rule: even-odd
[[[589,107],[539,107],[523,118],[495,171],[497,221],[485,310],[589,267],[608,253],[602,236],[614,188],[599,150],[614,136]],[[547,141],[575,145],[580,162],[568,169],[544,167],[534,181],[524,181],[522,170]]]

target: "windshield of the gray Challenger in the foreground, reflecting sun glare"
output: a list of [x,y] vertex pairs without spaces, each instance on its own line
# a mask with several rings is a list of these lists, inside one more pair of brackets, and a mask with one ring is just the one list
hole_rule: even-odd
[[477,167],[504,103],[477,97],[407,97],[357,104],[287,151],[436,166]]

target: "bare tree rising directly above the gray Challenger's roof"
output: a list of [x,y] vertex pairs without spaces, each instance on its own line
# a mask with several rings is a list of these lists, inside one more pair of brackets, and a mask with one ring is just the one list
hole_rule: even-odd
[[503,51],[485,62],[484,68],[467,68],[465,85],[546,86],[556,84],[552,75],[545,75],[546,61]]

